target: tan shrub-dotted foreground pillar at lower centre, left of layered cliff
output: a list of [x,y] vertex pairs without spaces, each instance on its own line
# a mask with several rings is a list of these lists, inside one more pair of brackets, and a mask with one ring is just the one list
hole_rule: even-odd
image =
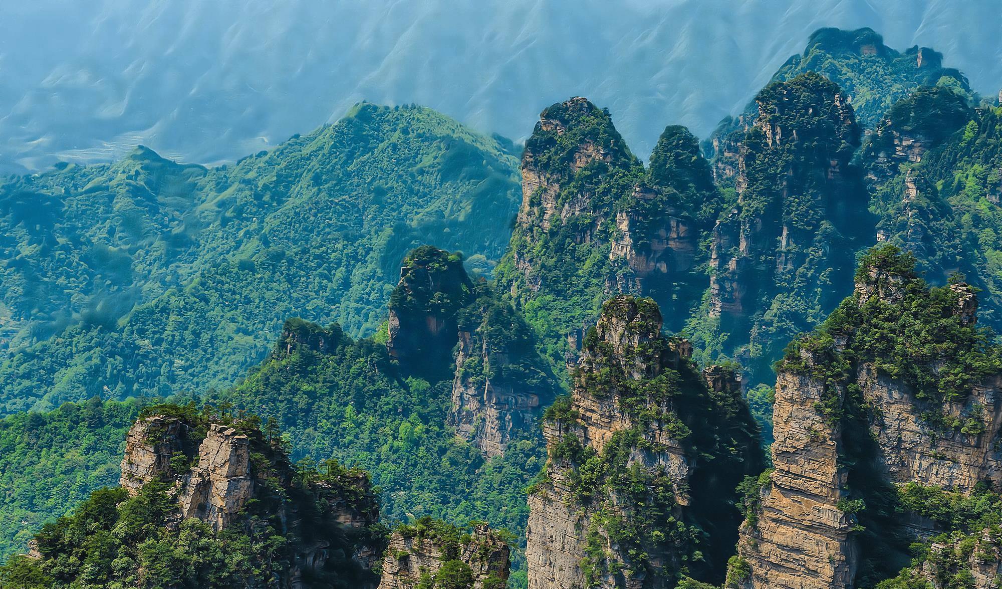
[[[687,508],[694,472],[704,465],[694,449],[700,442],[685,423],[699,421],[709,437],[733,441],[703,412],[720,409],[714,394],[739,395],[739,386],[720,367],[707,369],[703,378],[693,374],[687,342],[666,339],[660,330],[652,301],[619,296],[607,302],[585,338],[570,398],[547,413],[550,459],[529,495],[530,589],[669,587],[695,549],[698,542],[674,528],[676,521],[699,525]],[[748,420],[746,412],[729,417]],[[713,466],[729,468],[719,458]],[[743,458],[722,478],[732,482],[743,469],[757,468]],[[585,472],[597,479],[583,481]],[[639,477],[633,479],[634,493],[624,483],[630,476]],[[727,501],[725,492],[698,491],[701,500]],[[721,509],[716,515],[726,520]],[[711,549],[701,548],[711,558]]]

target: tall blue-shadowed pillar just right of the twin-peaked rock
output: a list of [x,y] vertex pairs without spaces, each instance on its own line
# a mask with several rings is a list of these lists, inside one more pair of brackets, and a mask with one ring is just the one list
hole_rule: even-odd
[[[835,307],[841,294],[830,284],[852,275],[847,244],[867,233],[866,194],[850,166],[860,128],[839,87],[809,73],[770,84],[756,100],[754,124],[717,139],[719,149],[737,145],[738,198],[712,229],[707,306],[729,335],[724,348],[750,333],[762,365],[754,373],[812,327],[813,310]],[[726,161],[717,160],[718,175]]]

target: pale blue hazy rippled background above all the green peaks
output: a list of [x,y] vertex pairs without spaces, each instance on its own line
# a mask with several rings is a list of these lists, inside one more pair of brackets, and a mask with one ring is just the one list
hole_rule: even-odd
[[945,54],[994,93],[989,0],[39,0],[0,8],[0,170],[109,161],[138,144],[214,163],[419,103],[524,138],[541,104],[607,105],[646,156],[667,123],[706,136],[824,26]]

